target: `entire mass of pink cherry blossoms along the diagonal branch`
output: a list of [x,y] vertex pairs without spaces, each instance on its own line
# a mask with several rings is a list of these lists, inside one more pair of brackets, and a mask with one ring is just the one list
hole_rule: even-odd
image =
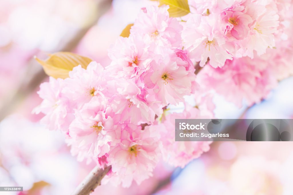
[[[189,3],[191,13],[180,20],[169,16],[168,6],[142,8],[130,36],[110,48],[109,65],[79,65],[68,78],[50,77],[40,85],[43,102],[35,112],[45,114],[49,129],[64,132],[78,160],[112,166],[103,182],[139,184],[160,158],[184,167],[208,151],[210,142],[175,142],[176,118],[213,118],[210,90],[236,105],[243,98],[252,105],[290,75],[264,56],[289,66],[291,45],[285,49],[282,38],[290,32],[288,2]],[[204,67],[196,76],[197,63]],[[188,95],[195,96],[195,107],[165,110]]]

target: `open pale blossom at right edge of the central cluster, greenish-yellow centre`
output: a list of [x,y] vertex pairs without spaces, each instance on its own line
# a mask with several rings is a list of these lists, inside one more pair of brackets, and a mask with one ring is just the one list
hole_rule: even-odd
[[[173,51],[164,52],[168,54]],[[189,68],[188,71],[186,67]],[[190,95],[197,87],[194,68],[175,53],[153,61],[152,70],[144,76],[144,83],[148,93],[155,96],[163,105],[176,105],[183,101],[184,95]]]

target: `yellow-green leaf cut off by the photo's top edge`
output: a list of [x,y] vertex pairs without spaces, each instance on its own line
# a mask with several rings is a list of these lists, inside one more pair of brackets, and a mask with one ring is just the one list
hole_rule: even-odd
[[181,17],[190,13],[188,0],[159,0],[160,5],[169,5],[170,17]]

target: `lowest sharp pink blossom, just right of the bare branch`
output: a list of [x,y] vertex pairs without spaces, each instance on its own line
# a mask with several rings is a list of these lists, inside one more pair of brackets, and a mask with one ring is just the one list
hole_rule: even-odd
[[158,131],[149,128],[141,130],[140,126],[134,125],[125,126],[121,142],[109,152],[111,181],[115,181],[115,185],[122,183],[123,187],[129,187],[132,180],[140,184],[152,176],[161,154],[159,143]]

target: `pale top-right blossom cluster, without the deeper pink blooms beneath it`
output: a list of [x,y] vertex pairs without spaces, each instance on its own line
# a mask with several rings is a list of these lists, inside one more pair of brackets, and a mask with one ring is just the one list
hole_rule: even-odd
[[[193,2],[193,1],[191,1]],[[275,1],[205,1],[197,4],[182,32],[184,46],[203,66],[222,67],[226,59],[253,58],[275,47],[279,15]]]

